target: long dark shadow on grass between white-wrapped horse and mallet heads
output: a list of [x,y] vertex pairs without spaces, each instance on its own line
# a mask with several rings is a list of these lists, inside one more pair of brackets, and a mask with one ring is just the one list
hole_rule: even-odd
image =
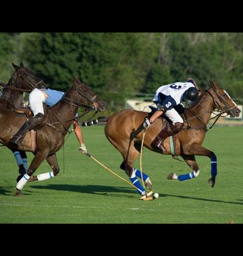
[[[76,193],[92,194],[92,195],[102,195],[105,197],[135,197],[137,195],[136,190],[132,188],[126,188],[124,186],[97,186],[97,185],[72,185],[72,184],[47,184],[43,185],[33,185],[31,188],[37,189],[48,189],[48,190],[58,190],[58,191],[72,191]],[[113,194],[115,193],[115,194]],[[124,193],[125,195],[117,195],[117,193]],[[133,195],[126,195],[128,193],[134,193]]]

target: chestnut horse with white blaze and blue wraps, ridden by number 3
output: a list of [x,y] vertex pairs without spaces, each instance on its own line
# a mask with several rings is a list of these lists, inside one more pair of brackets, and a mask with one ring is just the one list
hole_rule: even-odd
[[[213,151],[202,147],[209,118],[215,109],[219,111],[219,116],[222,113],[227,113],[233,118],[238,117],[240,114],[240,109],[238,109],[236,103],[234,103],[226,91],[217,86],[215,82],[211,82],[211,87],[200,95],[198,101],[188,109],[184,109],[184,130],[173,136],[174,152],[170,147],[170,138],[165,139],[164,145],[167,149],[166,152],[151,145],[157,134],[161,131],[163,124],[165,124],[165,119],[157,118],[146,129],[144,146],[147,149],[163,155],[180,155],[192,169],[192,173],[181,176],[171,173],[168,176],[169,180],[175,179],[182,181],[197,177],[200,170],[196,163],[195,155],[204,155],[211,159],[211,178],[209,179],[209,183],[212,187],[215,185],[215,177],[217,175],[216,155]],[[151,116],[151,113],[125,109],[110,116],[105,126],[105,135],[109,142],[118,149],[124,158],[120,168],[125,170],[129,177],[132,174],[134,175],[135,171],[136,176],[140,178],[140,171],[133,168],[133,166],[135,159],[140,154],[143,135],[142,122],[144,122],[144,118],[149,116]],[[151,186],[151,184],[147,185]]]

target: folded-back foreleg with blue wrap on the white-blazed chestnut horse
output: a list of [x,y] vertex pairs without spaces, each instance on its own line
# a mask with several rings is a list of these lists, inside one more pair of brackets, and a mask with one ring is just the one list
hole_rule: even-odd
[[198,164],[196,163],[195,156],[194,155],[182,155],[182,158],[190,166],[190,168],[192,169],[193,172],[190,172],[189,174],[178,175],[178,176],[175,173],[171,172],[169,174],[169,176],[167,177],[168,180],[184,181],[184,180],[196,178],[199,175],[200,170],[198,168]]

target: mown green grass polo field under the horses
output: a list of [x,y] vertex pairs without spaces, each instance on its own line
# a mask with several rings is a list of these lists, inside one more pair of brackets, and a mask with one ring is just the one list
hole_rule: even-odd
[[[109,143],[104,126],[83,128],[88,151],[122,177],[121,155]],[[140,201],[136,190],[78,152],[72,133],[57,153],[60,173],[43,182],[27,183],[22,197],[12,197],[18,169],[14,155],[0,148],[0,223],[1,224],[226,224],[243,223],[243,127],[215,126],[207,133],[204,146],[214,151],[218,176],[214,188],[207,183],[211,163],[196,157],[198,178],[179,182],[167,180],[169,172],[186,174],[190,168],[144,149],[143,171],[149,174],[159,199]],[[28,153],[28,159],[32,154]],[[139,168],[139,158],[136,167]],[[49,172],[47,162],[35,174]]]

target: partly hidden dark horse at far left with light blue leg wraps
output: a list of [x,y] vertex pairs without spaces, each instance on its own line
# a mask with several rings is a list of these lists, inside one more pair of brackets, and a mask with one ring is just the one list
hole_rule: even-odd
[[[23,108],[23,93],[31,92],[34,88],[44,88],[46,84],[35,76],[28,68],[24,67],[24,64],[21,62],[20,66],[12,63],[14,66],[14,74],[11,75],[9,82],[7,84],[0,83],[0,86],[3,86],[3,95],[0,97],[0,113],[4,112],[5,109],[11,110],[12,113],[19,115],[24,113],[26,108]],[[16,157],[16,161],[19,167],[19,176],[16,179],[17,182],[22,178],[26,173],[27,165],[27,155],[25,151],[16,151],[16,149],[9,148]],[[18,159],[18,160],[17,160]],[[20,161],[21,160],[21,161]]]

